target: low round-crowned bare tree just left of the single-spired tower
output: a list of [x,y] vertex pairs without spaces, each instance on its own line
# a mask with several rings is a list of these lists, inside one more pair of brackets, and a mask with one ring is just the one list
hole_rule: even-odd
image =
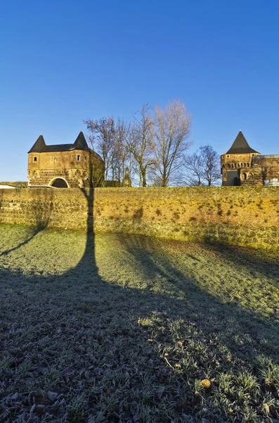
[[186,157],[184,166],[186,185],[216,185],[221,180],[220,157],[211,145],[200,147],[197,152]]

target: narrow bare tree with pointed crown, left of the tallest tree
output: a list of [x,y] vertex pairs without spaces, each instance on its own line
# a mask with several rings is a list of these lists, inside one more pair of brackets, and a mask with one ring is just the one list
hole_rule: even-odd
[[131,153],[138,166],[140,185],[147,185],[146,178],[150,168],[155,166],[155,144],[153,140],[153,120],[150,107],[143,104],[131,124],[129,137],[124,141],[126,151]]

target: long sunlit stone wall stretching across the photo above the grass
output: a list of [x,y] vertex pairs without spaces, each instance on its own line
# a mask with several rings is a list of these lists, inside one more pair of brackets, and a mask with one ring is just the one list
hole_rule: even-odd
[[[96,188],[96,232],[279,249],[279,187]],[[0,190],[0,223],[86,230],[89,190]]]

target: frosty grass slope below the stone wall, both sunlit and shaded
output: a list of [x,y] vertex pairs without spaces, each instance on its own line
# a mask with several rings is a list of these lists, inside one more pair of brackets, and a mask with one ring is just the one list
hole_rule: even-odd
[[276,421],[278,258],[0,226],[0,422]]

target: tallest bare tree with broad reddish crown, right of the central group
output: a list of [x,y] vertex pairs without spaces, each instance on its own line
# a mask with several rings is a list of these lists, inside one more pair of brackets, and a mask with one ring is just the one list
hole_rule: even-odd
[[180,173],[183,157],[190,147],[191,116],[179,100],[169,102],[166,109],[155,108],[154,136],[156,140],[157,178],[162,187]]

